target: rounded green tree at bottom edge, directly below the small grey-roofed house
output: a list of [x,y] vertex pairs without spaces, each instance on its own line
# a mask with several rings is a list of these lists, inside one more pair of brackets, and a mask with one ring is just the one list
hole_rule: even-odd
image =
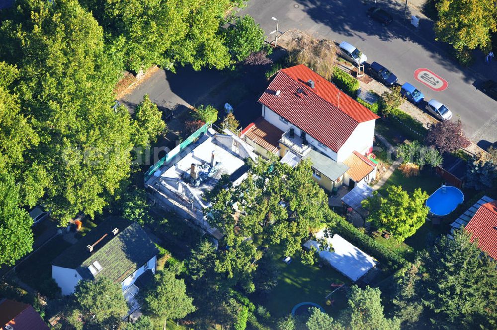
[[80,281],[74,296],[76,309],[72,314],[79,317],[72,321],[76,326],[82,323],[83,329],[115,329],[128,311],[121,284],[105,277]]

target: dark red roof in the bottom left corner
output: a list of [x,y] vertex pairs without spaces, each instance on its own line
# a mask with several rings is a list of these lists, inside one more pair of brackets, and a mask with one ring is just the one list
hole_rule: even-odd
[[12,326],[14,330],[49,330],[31,305],[9,299],[0,301],[0,327],[5,325]]

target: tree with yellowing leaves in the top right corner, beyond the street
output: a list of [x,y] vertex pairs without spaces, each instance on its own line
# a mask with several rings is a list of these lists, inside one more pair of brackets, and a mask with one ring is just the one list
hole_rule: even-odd
[[490,49],[491,32],[497,31],[497,7],[494,1],[440,0],[436,8],[436,40],[451,44],[460,61],[469,61],[469,51],[473,49]]

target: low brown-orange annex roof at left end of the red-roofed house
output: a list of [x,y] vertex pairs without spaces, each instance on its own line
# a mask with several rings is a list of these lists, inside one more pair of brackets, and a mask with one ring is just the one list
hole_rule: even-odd
[[283,131],[259,117],[242,131],[242,135],[244,134],[267,151],[276,153],[279,150],[278,141]]

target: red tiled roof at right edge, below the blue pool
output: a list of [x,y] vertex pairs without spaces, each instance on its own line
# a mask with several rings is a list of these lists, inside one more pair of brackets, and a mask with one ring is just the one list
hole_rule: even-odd
[[478,239],[478,247],[497,260],[497,200],[483,204],[466,225],[471,241]]

